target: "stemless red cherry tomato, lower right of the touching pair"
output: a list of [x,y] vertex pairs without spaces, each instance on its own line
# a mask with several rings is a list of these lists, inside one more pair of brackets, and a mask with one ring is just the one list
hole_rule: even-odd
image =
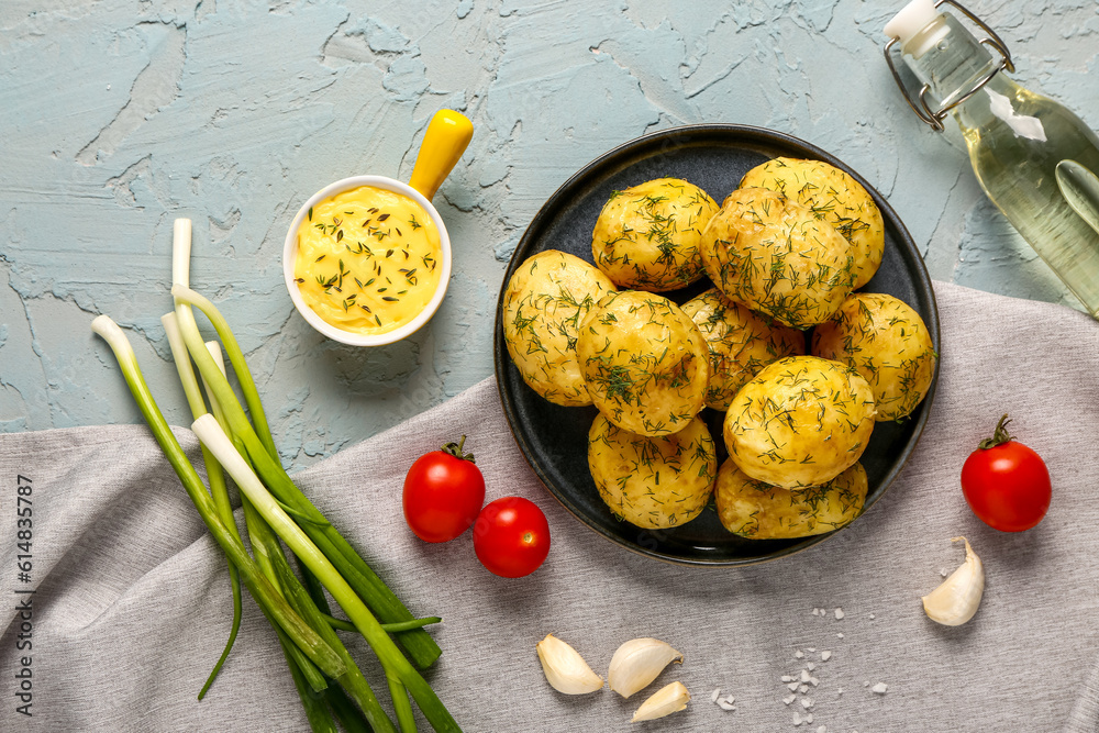
[[522,497],[491,501],[474,525],[474,552],[481,565],[502,578],[530,575],[550,554],[546,515]]

